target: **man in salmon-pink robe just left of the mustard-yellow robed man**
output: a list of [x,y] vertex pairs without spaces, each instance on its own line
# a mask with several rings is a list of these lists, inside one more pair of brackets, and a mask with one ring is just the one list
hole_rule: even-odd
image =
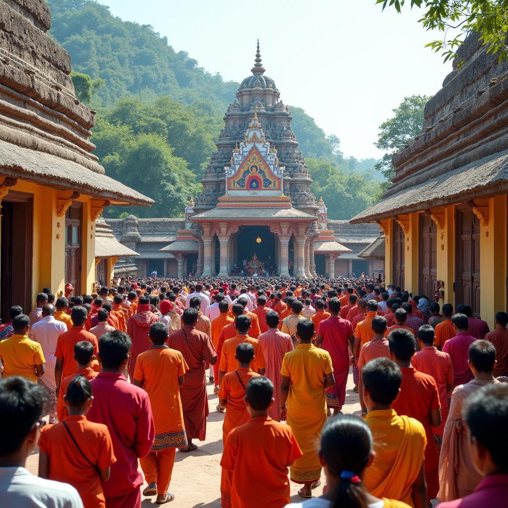
[[[273,386],[280,386],[280,368],[282,367],[282,360],[284,359],[284,355],[293,351],[293,339],[291,335],[282,333],[278,329],[279,324],[279,315],[277,312],[273,310],[266,314],[266,323],[268,331],[262,333],[258,340],[261,346],[261,350],[263,351],[263,356],[265,357],[266,363],[266,371],[265,376],[270,379],[273,383]],[[279,421],[279,410],[278,407],[280,405],[279,398],[280,392],[279,390],[275,390],[273,397],[275,402],[268,410],[268,415],[270,418]]]

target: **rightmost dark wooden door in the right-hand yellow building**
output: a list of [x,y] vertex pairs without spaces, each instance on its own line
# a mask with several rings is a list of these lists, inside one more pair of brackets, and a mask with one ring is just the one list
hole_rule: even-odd
[[469,207],[457,208],[455,305],[480,314],[480,220]]

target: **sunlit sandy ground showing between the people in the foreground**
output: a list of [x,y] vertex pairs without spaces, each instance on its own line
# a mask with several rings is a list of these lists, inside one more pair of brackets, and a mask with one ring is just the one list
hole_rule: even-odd
[[[346,401],[342,408],[345,413],[360,414],[358,394],[353,391],[353,375],[347,380]],[[178,508],[220,508],[220,457],[223,451],[222,424],[224,415],[215,410],[217,396],[213,394],[213,386],[207,385],[208,404],[210,415],[206,429],[206,441],[195,441],[199,448],[195,452],[176,452],[175,467],[169,491],[175,495],[175,500],[169,506]],[[317,436],[316,436],[317,437]],[[33,473],[38,472],[39,449],[28,457],[26,467]],[[141,469],[140,469],[141,470]],[[322,477],[322,486],[314,491],[320,496],[325,484]],[[143,488],[146,486],[143,485]],[[302,501],[298,495],[300,486],[291,484],[291,500]],[[156,506],[155,497],[142,498],[141,505]],[[86,506],[85,506],[86,508]]]

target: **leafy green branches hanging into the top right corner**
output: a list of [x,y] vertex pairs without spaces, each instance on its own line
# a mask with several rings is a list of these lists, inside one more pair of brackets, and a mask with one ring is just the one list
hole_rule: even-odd
[[[393,6],[401,12],[404,0],[376,0],[376,4]],[[431,41],[427,47],[442,51],[444,61],[458,58],[457,49],[473,31],[480,34],[487,51],[497,53],[499,61],[508,58],[506,33],[508,31],[508,0],[411,0],[411,9],[423,11],[419,20],[427,30],[439,30],[442,39]]]

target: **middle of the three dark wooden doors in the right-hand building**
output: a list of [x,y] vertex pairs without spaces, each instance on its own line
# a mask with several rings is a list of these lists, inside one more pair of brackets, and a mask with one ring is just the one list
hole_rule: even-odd
[[437,279],[437,227],[430,215],[420,215],[419,294],[432,300]]

